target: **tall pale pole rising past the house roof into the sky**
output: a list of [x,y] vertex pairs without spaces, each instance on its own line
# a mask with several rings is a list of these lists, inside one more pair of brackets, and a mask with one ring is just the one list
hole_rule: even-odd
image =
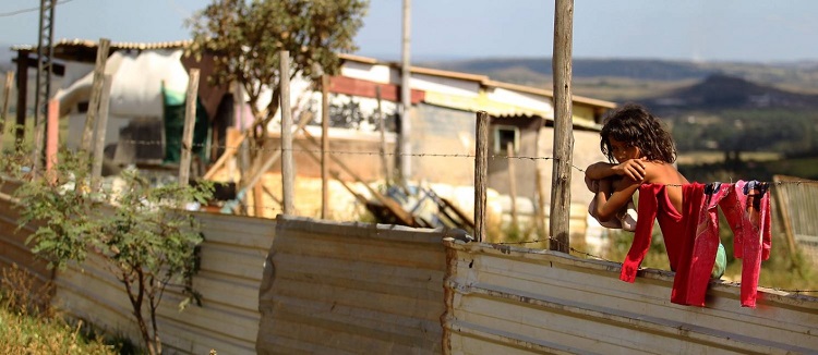
[[402,46],[402,59],[400,61],[400,179],[404,185],[407,184],[409,176],[411,176],[412,168],[412,144],[409,142],[409,134],[411,133],[411,107],[412,107],[412,91],[410,87],[411,73],[411,54],[410,54],[410,38],[411,38],[411,0],[404,0],[404,46]]

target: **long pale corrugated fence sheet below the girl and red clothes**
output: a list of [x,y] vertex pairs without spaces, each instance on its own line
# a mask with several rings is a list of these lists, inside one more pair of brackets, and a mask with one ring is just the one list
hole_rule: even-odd
[[444,352],[787,354],[818,351],[818,298],[711,284],[706,308],[670,302],[670,272],[618,280],[619,264],[446,240]]

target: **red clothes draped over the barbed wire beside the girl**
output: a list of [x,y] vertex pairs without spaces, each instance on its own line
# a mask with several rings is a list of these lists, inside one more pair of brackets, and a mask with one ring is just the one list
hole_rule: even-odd
[[[742,262],[742,306],[755,307],[761,260],[770,256],[769,194],[756,195],[758,219],[747,212],[749,198],[744,194],[746,182],[722,184],[711,195],[703,194],[699,183],[682,186],[683,210],[679,215],[667,198],[664,185],[639,186],[639,210],[634,243],[623,261],[619,279],[634,282],[639,265],[650,247],[653,220],[659,221],[664,236],[673,280],[671,302],[705,306],[710,273],[719,247],[719,217],[717,206],[734,233],[734,255]],[[694,218],[689,218],[689,217]]]

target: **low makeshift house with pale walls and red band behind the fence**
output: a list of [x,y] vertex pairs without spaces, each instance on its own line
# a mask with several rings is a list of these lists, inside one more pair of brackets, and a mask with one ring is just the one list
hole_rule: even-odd
[[[164,136],[161,130],[161,83],[167,88],[179,90],[187,85],[189,69],[199,68],[202,77],[206,77],[212,68],[207,58],[194,62],[182,56],[187,44],[111,45],[107,72],[113,75],[110,112],[115,124],[113,128],[109,128],[106,142],[116,144],[118,150],[128,150],[124,149],[128,148],[127,143],[167,146],[168,137]],[[61,112],[70,117],[69,121],[74,127],[84,125],[83,105],[87,102],[96,47],[96,42],[87,40],[61,40],[55,46],[55,58],[64,68],[62,83],[57,86],[59,90],[55,96],[61,100]],[[14,49],[19,58],[28,58],[33,50],[24,46]],[[400,65],[352,54],[340,57],[341,70],[337,76],[329,78],[329,150],[338,152],[338,160],[354,171],[361,181],[383,181],[385,174],[396,168],[397,158],[409,155],[408,164],[400,167],[404,169],[400,174],[407,182],[432,184],[436,186],[435,193],[447,195],[465,210],[470,210],[473,193],[469,196],[468,191],[473,184],[474,118],[477,111],[483,110],[492,117],[490,147],[493,158],[490,161],[489,187],[500,196],[495,205],[506,215],[519,213],[529,220],[539,216],[548,220],[554,122],[551,90],[501,83],[484,75],[413,66],[409,79],[412,107],[408,123],[411,128],[408,136],[402,137],[410,143],[410,148],[409,151],[397,152],[395,149],[401,138],[397,132],[400,132],[402,121],[399,118]],[[17,60],[19,70],[27,71],[29,61]],[[209,122],[210,155],[207,161],[213,162],[226,147],[231,147],[228,127],[246,126],[252,118],[245,107],[234,105],[238,100],[228,88],[199,87],[199,97]],[[296,120],[301,113],[313,113],[313,121],[305,131],[318,136],[321,93],[313,87],[305,79],[293,79],[291,106]],[[268,96],[266,100],[269,99],[272,97]],[[579,96],[574,96],[573,100],[574,166],[584,168],[604,159],[599,149],[600,120],[615,103]],[[268,155],[280,146],[278,120],[274,119],[268,126],[270,139],[263,147]],[[135,128],[134,123],[137,122],[147,122],[154,130]],[[76,128],[72,130],[76,132]],[[381,130],[384,132],[381,133]],[[296,140],[300,150],[294,155],[299,179],[320,178],[320,164],[306,154],[317,148],[310,148],[303,136],[297,135]],[[144,147],[132,146],[129,150],[134,151],[131,160],[122,158],[118,161],[144,163],[161,158],[161,150],[153,151],[147,155],[147,160],[141,161],[139,157],[144,156],[143,150]],[[514,159],[507,159],[509,151]],[[279,169],[274,164],[269,172]],[[236,173],[225,171],[220,179],[233,180]],[[581,176],[580,169],[574,173]],[[265,176],[264,181],[268,180],[269,176]],[[275,196],[269,197],[275,200]],[[591,194],[587,193],[581,179],[573,179],[572,219],[576,222],[572,223],[573,232],[581,233],[585,230],[586,207],[590,198]],[[354,201],[354,198],[349,200]],[[512,200],[515,203],[512,204]],[[275,216],[275,212],[269,215]],[[314,216],[314,212],[306,215]]]

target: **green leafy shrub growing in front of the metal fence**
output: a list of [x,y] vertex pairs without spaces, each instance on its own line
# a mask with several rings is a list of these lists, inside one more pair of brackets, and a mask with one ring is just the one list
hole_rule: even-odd
[[160,354],[156,311],[165,291],[170,286],[187,296],[180,307],[199,301],[191,277],[203,237],[196,220],[179,207],[206,201],[212,186],[153,187],[136,171],[125,170],[120,188],[92,193],[81,161],[87,160],[63,152],[55,171],[15,191],[19,225],[43,222],[26,244],[51,268],[98,255],[128,294],[148,352]]

